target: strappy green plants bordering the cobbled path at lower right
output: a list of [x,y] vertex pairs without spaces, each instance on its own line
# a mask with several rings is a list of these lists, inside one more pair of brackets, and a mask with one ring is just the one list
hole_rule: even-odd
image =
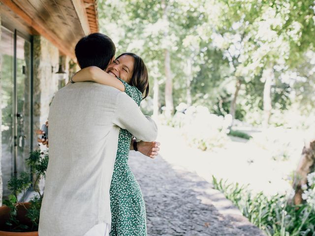
[[268,236],[313,236],[315,210],[310,205],[292,205],[285,195],[269,198],[262,192],[252,194],[247,186],[227,184],[227,180],[218,181],[214,176],[213,184]]

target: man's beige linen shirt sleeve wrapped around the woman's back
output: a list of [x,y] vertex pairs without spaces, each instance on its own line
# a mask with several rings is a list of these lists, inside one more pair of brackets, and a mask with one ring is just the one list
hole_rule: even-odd
[[144,116],[137,104],[125,92],[117,96],[113,123],[126,129],[138,140],[153,142],[158,136],[158,127],[153,119]]

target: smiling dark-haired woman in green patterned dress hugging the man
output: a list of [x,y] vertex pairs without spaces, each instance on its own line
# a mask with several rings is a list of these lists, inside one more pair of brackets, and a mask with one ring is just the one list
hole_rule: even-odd
[[[117,57],[106,69],[87,67],[76,73],[74,82],[90,81],[108,85],[125,91],[138,106],[148,96],[149,79],[143,60],[135,54],[124,53]],[[114,173],[110,187],[112,224],[110,236],[146,236],[146,210],[141,189],[128,165],[132,134],[121,129]],[[132,148],[131,148],[132,149]],[[147,155],[154,157],[158,147],[151,148]]]

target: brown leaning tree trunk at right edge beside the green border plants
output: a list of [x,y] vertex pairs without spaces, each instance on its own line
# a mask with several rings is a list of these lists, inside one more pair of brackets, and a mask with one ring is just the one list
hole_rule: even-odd
[[299,205],[303,202],[302,199],[302,185],[307,183],[307,175],[314,171],[315,165],[315,139],[306,144],[302,151],[302,157],[293,181],[293,189],[295,189],[295,195],[293,202],[295,205]]

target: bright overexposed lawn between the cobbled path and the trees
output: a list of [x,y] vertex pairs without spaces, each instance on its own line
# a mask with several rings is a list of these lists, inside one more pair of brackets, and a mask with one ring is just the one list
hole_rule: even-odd
[[[228,182],[250,184],[249,187],[255,192],[263,191],[267,195],[291,191],[292,172],[300,159],[303,142],[294,142],[295,152],[286,156],[288,154],[282,153],[283,146],[279,143],[275,143],[274,147],[265,147],[268,143],[262,140],[266,134],[259,132],[251,133],[253,138],[246,143],[244,139],[228,137],[224,148],[202,151],[190,147],[182,132],[180,128],[159,126],[160,152],[169,163],[196,172],[209,182],[212,182],[214,175]],[[295,140],[299,139],[295,134],[292,135]],[[288,138],[285,133],[281,137]],[[292,149],[292,145],[284,148]]]

